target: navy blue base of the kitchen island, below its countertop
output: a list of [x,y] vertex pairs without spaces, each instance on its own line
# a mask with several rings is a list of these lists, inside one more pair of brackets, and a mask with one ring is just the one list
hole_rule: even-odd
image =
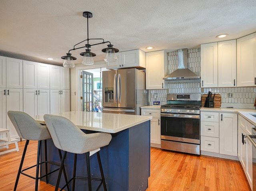
[[[88,130],[83,131],[92,133]],[[44,145],[42,147],[44,148]],[[60,163],[58,150],[51,139],[47,140],[47,153],[49,160]],[[41,157],[44,158],[44,152],[41,153]],[[150,176],[150,120],[113,133],[110,144],[101,148],[100,158],[108,191],[146,191]],[[73,161],[74,154],[68,153],[65,161],[68,179],[73,174]],[[96,154],[90,157],[90,164],[92,177],[100,177]],[[51,165],[48,168],[49,171],[56,166]],[[42,167],[41,173],[44,173],[44,167]],[[87,177],[85,154],[80,154],[77,157],[76,175]],[[58,172],[50,175],[48,183],[56,185],[57,176]],[[46,180],[43,179],[43,181]],[[98,183],[98,181],[93,181],[93,190],[96,190]],[[65,181],[62,175],[60,187],[63,185],[65,185]],[[72,183],[70,183],[71,188]],[[87,180],[76,180],[77,191],[87,189]],[[103,190],[103,186],[101,186],[100,191]]]

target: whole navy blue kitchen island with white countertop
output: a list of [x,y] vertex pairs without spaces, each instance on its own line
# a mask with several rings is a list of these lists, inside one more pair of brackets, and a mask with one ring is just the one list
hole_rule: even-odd
[[[74,122],[85,133],[108,132],[112,140],[108,146],[101,148],[100,157],[108,191],[145,191],[150,176],[150,119],[151,116],[110,114],[98,112],[62,112],[56,114],[64,116]],[[43,116],[34,116],[34,119],[45,124]],[[72,139],[67,135],[67,141]],[[43,145],[44,147],[44,145]],[[48,159],[60,162],[58,150],[51,139],[47,140]],[[44,153],[41,153],[44,158]],[[92,177],[100,177],[97,156],[91,156]],[[73,173],[74,154],[68,153],[65,167],[67,176]],[[48,170],[56,166],[52,165]],[[44,168],[41,169],[44,173]],[[56,185],[58,173],[50,175],[49,183]],[[77,176],[87,176],[86,157],[78,155]],[[65,184],[64,177],[60,187]],[[92,183],[93,189],[98,182]],[[76,188],[87,189],[87,181],[76,181]],[[103,191],[103,186],[100,187]]]

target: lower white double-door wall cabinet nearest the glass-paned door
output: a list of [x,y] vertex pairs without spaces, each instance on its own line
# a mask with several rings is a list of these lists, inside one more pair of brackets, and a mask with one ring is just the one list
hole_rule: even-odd
[[50,90],[50,113],[70,111],[70,90]]

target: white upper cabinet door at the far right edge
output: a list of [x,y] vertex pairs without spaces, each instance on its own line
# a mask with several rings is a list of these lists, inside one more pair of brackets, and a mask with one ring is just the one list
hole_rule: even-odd
[[256,33],[237,39],[237,86],[256,85]]

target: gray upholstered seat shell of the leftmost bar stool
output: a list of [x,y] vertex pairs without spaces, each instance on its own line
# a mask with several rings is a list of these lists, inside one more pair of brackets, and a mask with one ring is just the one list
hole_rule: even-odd
[[26,140],[50,139],[50,133],[45,125],[41,125],[34,118],[22,111],[7,112],[20,138]]

